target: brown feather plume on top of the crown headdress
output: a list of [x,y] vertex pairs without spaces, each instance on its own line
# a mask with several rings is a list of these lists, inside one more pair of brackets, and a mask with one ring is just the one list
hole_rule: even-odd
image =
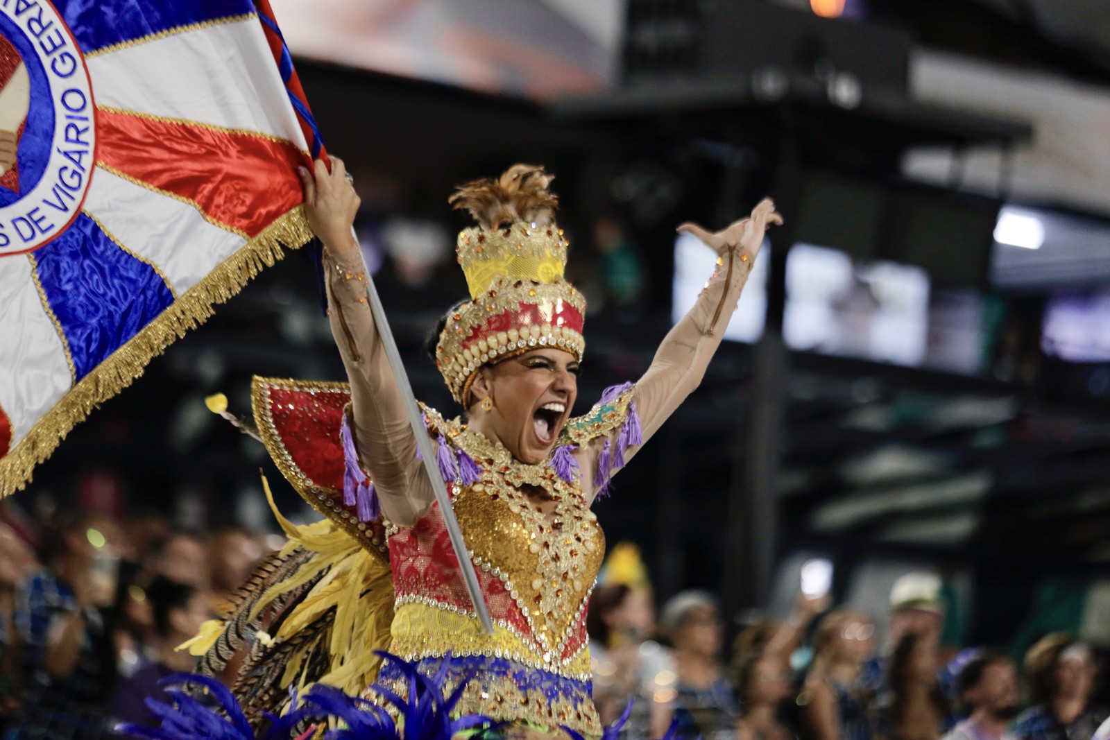
[[554,221],[558,196],[547,192],[555,175],[542,165],[514,164],[500,178],[483,178],[460,185],[447,199],[456,210],[467,210],[483,229],[500,229],[517,221],[545,225]]

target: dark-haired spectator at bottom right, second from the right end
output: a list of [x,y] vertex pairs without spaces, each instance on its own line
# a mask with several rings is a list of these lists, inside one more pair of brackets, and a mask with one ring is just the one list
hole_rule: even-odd
[[1006,728],[1018,716],[1018,673],[1009,658],[983,652],[956,677],[959,700],[969,711],[945,740],[1011,740]]

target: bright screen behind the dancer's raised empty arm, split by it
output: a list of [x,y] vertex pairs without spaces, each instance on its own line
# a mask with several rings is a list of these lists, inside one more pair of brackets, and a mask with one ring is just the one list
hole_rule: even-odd
[[[725,338],[735,342],[755,342],[763,336],[767,320],[767,268],[770,246],[764,242],[759,256],[751,267],[748,282],[740,293],[739,307],[733,314]],[[677,322],[686,315],[698,294],[716,268],[717,253],[692,234],[679,234],[675,240],[675,280],[670,301],[670,318]],[[740,263],[737,263],[739,265]],[[726,306],[730,308],[731,306]]]

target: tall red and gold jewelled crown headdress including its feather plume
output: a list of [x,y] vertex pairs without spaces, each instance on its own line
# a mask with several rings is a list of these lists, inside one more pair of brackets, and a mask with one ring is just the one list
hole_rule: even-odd
[[554,179],[542,166],[516,164],[496,180],[475,180],[451,196],[478,226],[458,233],[455,252],[471,300],[447,316],[435,364],[455,401],[478,368],[538,347],[582,358],[586,301],[563,280],[567,241],[555,224]]

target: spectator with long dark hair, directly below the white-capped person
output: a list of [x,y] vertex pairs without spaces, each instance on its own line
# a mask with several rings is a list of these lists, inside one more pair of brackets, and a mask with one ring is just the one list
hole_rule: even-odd
[[937,740],[944,734],[948,702],[937,682],[936,652],[914,631],[902,635],[890,657],[886,708],[888,740]]

